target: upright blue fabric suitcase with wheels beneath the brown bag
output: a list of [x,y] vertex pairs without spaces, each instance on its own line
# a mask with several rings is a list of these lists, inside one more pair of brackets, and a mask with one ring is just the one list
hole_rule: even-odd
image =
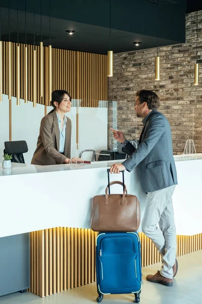
[[99,233],[96,239],[97,302],[104,294],[134,293],[140,300],[142,274],[136,232]]

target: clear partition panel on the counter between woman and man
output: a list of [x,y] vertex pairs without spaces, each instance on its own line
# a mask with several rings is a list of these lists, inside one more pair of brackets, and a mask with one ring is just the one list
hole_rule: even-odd
[[[108,101],[73,99],[67,117],[72,121],[71,157],[97,161],[100,151],[108,150]],[[110,123],[109,127],[117,125]]]

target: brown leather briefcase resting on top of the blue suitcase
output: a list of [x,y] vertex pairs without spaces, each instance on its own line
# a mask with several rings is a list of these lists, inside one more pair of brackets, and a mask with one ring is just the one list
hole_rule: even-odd
[[[124,176],[124,173],[123,173]],[[111,185],[124,186],[123,194],[108,194]],[[134,195],[127,194],[124,183],[112,181],[105,195],[93,197],[91,207],[91,229],[93,231],[137,231],[140,224],[140,205]]]

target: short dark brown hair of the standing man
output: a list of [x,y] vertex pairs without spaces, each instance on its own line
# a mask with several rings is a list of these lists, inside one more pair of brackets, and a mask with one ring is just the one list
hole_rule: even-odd
[[140,103],[146,102],[149,110],[155,110],[160,107],[159,96],[149,90],[140,90],[136,93]]

